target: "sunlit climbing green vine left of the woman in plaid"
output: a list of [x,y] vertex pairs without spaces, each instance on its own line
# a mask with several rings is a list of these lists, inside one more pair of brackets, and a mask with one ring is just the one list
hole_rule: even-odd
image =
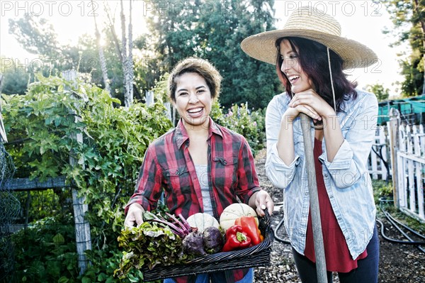
[[[171,122],[160,102],[149,107],[134,104],[128,109],[115,108],[113,104],[119,101],[91,84],[74,84],[60,77],[37,78],[26,95],[2,96],[2,113],[11,141],[6,150],[17,167],[15,177],[42,181],[64,175],[68,184],[86,197],[93,251],[92,265],[81,280],[104,282],[113,278],[122,255],[117,238],[123,226],[123,206],[134,191],[145,150],[171,128]],[[82,140],[76,138],[78,135]],[[70,156],[74,165],[69,162]],[[70,189],[64,189],[67,191],[56,192],[59,206],[69,205]],[[57,213],[61,212],[58,209]],[[21,243],[18,241],[17,249]],[[75,252],[75,238],[67,243],[73,243]],[[34,262],[43,262],[46,256],[42,250],[31,249],[22,255],[22,262],[33,262],[33,257],[38,258]],[[108,262],[105,259],[110,257],[117,259],[116,265],[103,270]],[[109,263],[113,265],[114,260]],[[77,278],[78,271],[48,277],[40,274],[32,282],[72,282],[67,280]]]

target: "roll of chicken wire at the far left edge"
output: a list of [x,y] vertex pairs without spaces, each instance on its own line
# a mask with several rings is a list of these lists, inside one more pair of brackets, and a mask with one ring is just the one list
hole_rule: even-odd
[[13,245],[10,226],[18,216],[21,204],[7,189],[15,173],[11,155],[6,152],[0,138],[0,280],[13,272]]

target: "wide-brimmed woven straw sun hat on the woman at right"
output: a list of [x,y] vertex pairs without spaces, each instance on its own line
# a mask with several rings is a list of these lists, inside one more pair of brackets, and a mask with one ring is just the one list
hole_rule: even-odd
[[344,69],[367,67],[378,62],[378,56],[370,48],[341,37],[341,26],[335,18],[312,6],[303,6],[293,11],[281,30],[266,31],[245,38],[241,48],[257,60],[276,65],[276,40],[287,36],[322,43],[344,60]]

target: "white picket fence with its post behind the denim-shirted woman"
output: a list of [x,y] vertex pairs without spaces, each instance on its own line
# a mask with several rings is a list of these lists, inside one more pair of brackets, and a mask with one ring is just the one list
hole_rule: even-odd
[[392,178],[395,206],[425,222],[424,125],[402,123],[397,110],[376,130],[368,165],[373,179]]

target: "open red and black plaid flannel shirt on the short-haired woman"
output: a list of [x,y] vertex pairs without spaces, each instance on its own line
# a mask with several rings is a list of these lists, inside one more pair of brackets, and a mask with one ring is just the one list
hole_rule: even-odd
[[[208,135],[208,185],[212,209],[219,219],[223,209],[238,202],[248,204],[254,192],[260,190],[254,157],[246,139],[210,118]],[[157,207],[164,192],[164,201],[171,213],[185,218],[203,212],[202,193],[195,165],[188,150],[189,137],[183,122],[155,140],[145,153],[135,193],[125,206],[140,204],[145,210]],[[224,272],[223,282],[237,282],[247,270]],[[179,277],[176,282],[195,282],[194,277]]]

